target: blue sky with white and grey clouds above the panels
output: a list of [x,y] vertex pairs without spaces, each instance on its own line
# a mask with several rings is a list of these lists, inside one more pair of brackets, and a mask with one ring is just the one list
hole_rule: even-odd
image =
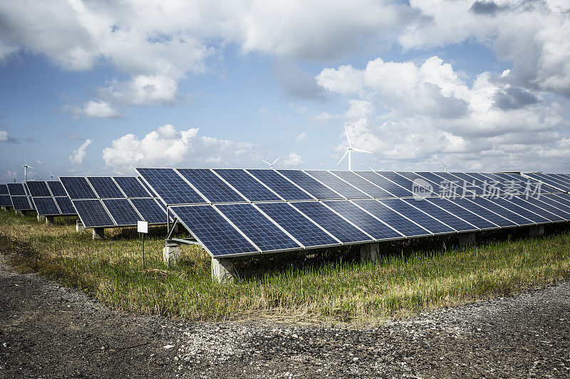
[[[570,172],[567,0],[1,1],[0,181]],[[50,174],[51,173],[51,174]]]

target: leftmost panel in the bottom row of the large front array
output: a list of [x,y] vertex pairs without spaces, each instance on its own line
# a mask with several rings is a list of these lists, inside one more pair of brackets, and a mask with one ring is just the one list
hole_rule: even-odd
[[210,205],[177,206],[171,209],[214,257],[258,252]]

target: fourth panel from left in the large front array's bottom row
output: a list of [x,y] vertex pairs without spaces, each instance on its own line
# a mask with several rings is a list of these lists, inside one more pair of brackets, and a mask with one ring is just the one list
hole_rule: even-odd
[[343,243],[370,241],[371,237],[355,228],[351,223],[341,218],[332,210],[326,208],[318,201],[302,201],[291,203],[296,209],[301,210],[307,217],[314,220],[318,225],[325,228]]

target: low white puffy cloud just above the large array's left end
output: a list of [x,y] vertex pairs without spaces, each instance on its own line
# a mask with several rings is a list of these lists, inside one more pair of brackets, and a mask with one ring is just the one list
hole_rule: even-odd
[[198,128],[178,131],[173,125],[139,138],[125,134],[103,149],[105,165],[123,174],[135,166],[232,166],[259,161],[254,145],[198,136]]

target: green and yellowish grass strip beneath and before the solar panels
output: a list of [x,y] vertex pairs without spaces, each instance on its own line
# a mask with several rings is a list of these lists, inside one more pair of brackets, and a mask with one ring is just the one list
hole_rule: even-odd
[[298,253],[242,259],[237,280],[223,285],[212,282],[210,258],[196,246],[182,247],[180,263],[165,267],[164,228],[151,228],[142,269],[132,228],[92,240],[75,232],[74,218],[45,225],[0,211],[0,251],[21,271],[84,289],[117,309],[191,320],[375,324],[570,277],[565,228],[551,227],[539,238],[522,237],[522,228],[487,233],[467,249],[453,237],[386,243],[375,265],[360,263],[358,247],[322,250],[313,260]]

